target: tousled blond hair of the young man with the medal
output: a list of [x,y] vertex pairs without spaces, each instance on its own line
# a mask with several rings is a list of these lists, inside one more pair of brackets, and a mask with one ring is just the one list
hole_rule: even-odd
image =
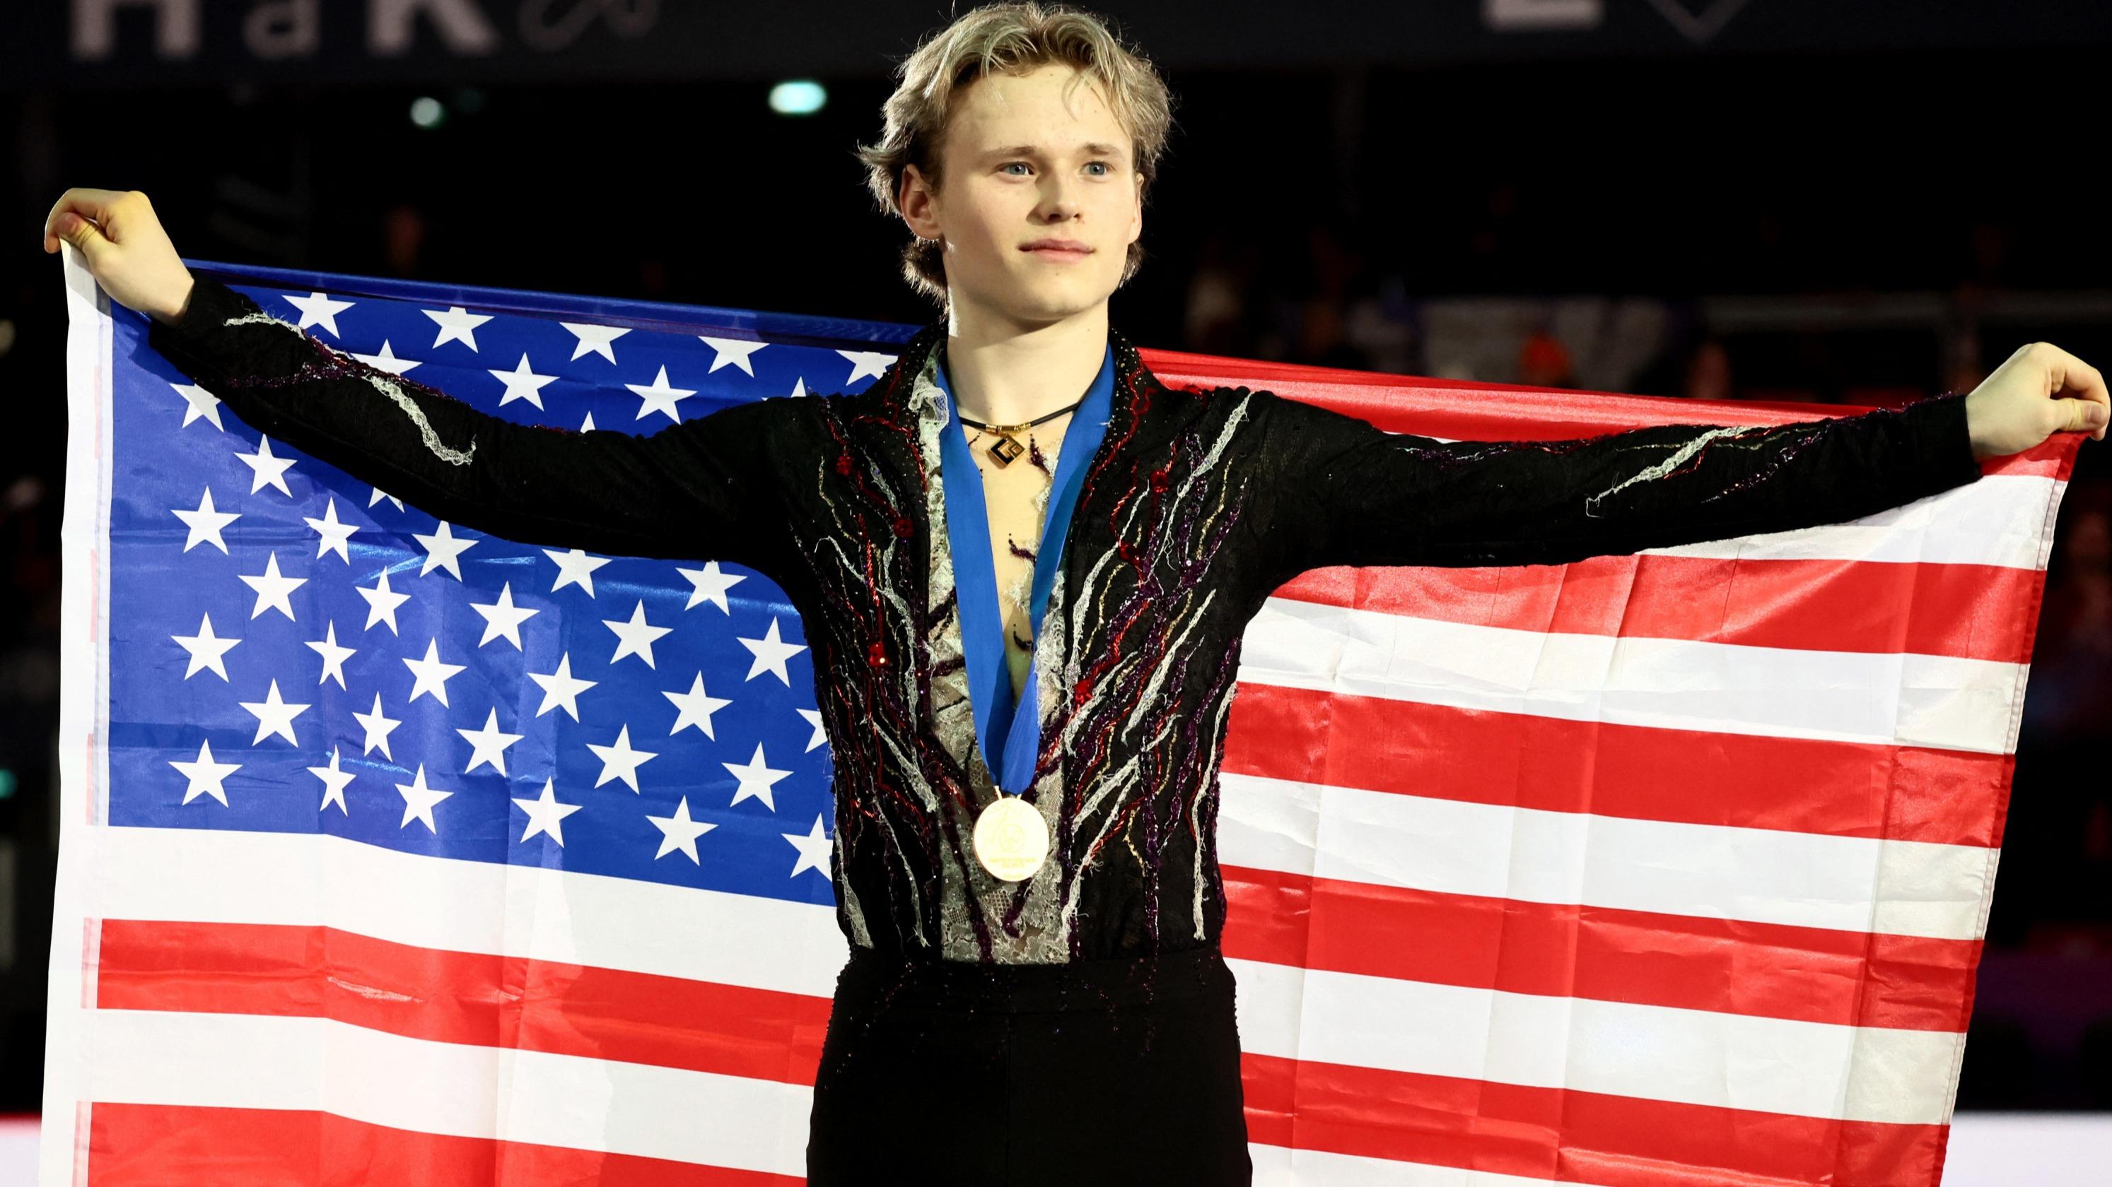
[[[1024,74],[1050,63],[1079,70],[1071,87],[1088,78],[1100,84],[1115,120],[1130,133],[1140,196],[1149,194],[1172,129],[1172,95],[1151,61],[1121,44],[1092,13],[1064,4],[984,4],[929,34],[902,59],[895,70],[902,82],[881,106],[885,131],[879,144],[857,146],[866,188],[881,213],[902,215],[898,194],[910,165],[938,190],[938,148],[963,87],[984,74]],[[1128,283],[1143,262],[1143,243],[1130,243],[1117,285]],[[946,268],[936,239],[910,239],[902,247],[902,279],[946,304]]]

